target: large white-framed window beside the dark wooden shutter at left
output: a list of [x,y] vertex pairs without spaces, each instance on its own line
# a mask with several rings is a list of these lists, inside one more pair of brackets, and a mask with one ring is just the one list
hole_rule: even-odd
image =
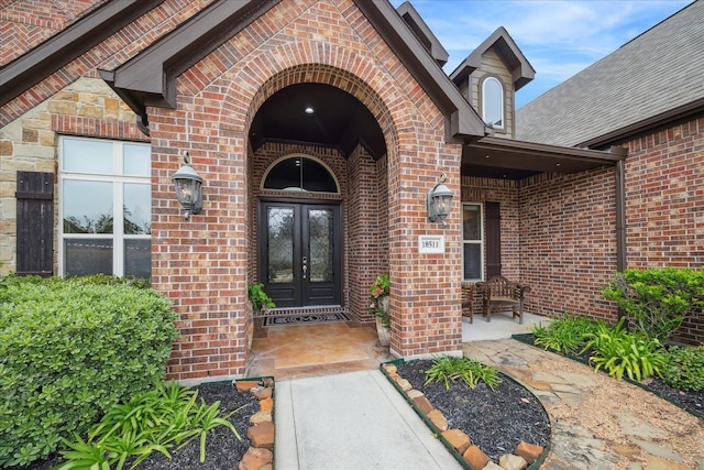
[[58,164],[59,273],[148,278],[150,145],[62,136]]

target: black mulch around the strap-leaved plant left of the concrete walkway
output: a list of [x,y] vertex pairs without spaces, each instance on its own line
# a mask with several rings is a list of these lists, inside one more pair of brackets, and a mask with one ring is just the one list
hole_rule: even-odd
[[[172,458],[161,452],[154,452],[138,467],[140,470],[222,470],[237,469],[240,460],[250,447],[246,430],[250,427],[250,417],[258,411],[258,402],[249,392],[237,390],[232,383],[207,383],[195,387],[198,390],[198,403],[204,398],[207,404],[220,401],[221,415],[226,415],[241,406],[242,409],[229,418],[238,430],[242,440],[238,440],[232,430],[224,426],[218,426],[208,433],[206,439],[206,461],[200,463],[200,439],[196,438],[180,449],[170,449]],[[30,467],[33,470],[47,470],[62,462],[61,458],[35,462]],[[124,466],[131,467],[130,462]]]

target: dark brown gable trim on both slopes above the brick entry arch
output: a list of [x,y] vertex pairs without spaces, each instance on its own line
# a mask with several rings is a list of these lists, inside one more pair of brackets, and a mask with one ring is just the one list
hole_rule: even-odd
[[[175,106],[175,79],[180,72],[279,1],[215,2],[114,70],[101,70],[101,76],[138,113],[146,131],[146,106]],[[443,112],[448,138],[465,140],[485,135],[486,128],[476,111],[391,3],[369,0],[354,0],[354,3]]]

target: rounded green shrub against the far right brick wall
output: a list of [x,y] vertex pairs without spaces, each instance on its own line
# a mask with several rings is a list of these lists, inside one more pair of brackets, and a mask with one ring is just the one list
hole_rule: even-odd
[[685,318],[704,307],[704,271],[663,267],[616,273],[602,293],[648,339],[664,342]]

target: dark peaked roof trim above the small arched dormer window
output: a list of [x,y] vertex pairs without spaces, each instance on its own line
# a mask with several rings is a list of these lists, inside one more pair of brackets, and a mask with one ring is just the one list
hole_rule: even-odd
[[504,26],[499,26],[450,74],[452,81],[460,84],[466,80],[474,70],[482,66],[482,56],[491,48],[494,48],[508,66],[516,91],[536,78],[536,70],[520,52],[516,42]]

